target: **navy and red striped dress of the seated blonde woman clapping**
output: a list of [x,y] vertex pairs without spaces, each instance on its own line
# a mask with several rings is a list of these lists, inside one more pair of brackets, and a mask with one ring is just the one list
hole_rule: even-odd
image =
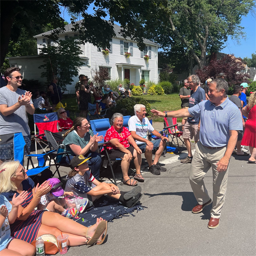
[[[27,199],[21,204],[23,208],[26,208],[27,205],[33,199],[33,192],[32,189],[34,188],[34,182],[31,178],[22,182],[23,190],[28,192]],[[13,200],[14,193],[16,191],[10,191],[1,193],[4,195],[9,202]],[[19,195],[19,193],[17,193]],[[16,195],[16,196],[17,196]],[[30,216],[28,216],[27,220],[19,221],[16,220],[13,224],[10,225],[11,227],[11,236],[18,238],[20,240],[26,241],[27,243],[31,243],[36,240],[38,230],[41,226],[42,215],[44,211],[42,210],[34,210]]]

